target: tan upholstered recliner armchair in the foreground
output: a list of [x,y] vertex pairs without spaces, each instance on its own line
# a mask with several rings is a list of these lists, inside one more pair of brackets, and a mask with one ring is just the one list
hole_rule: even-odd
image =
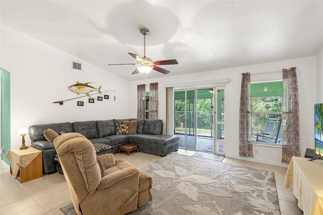
[[97,156],[93,144],[79,133],[57,137],[70,196],[78,214],[125,214],[149,202],[152,180],[114,154]]

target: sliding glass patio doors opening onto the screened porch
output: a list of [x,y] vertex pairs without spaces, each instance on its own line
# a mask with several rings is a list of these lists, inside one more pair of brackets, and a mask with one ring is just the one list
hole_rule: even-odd
[[224,154],[225,88],[175,90],[174,134],[182,149]]

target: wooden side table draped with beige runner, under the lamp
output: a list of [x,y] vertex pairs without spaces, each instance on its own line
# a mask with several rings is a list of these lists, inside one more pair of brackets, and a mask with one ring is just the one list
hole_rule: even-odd
[[28,147],[20,150],[10,149],[6,154],[10,161],[10,174],[24,183],[42,177],[42,152]]

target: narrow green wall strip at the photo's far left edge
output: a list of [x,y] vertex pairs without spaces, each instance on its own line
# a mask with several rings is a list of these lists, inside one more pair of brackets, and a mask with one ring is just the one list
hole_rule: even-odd
[[1,143],[4,148],[1,159],[8,165],[9,160],[6,157],[7,152],[11,148],[10,142],[10,73],[0,68],[1,77]]

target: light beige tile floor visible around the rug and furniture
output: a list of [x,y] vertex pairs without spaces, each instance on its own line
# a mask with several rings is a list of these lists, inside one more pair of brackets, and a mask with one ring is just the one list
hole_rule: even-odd
[[[194,151],[179,149],[179,153],[193,155]],[[117,159],[125,158],[138,168],[142,168],[155,160],[160,159],[158,155],[131,152],[116,153]],[[216,162],[216,161],[214,161]],[[277,192],[281,214],[300,215],[294,195],[291,189],[284,189],[284,180],[287,168],[272,165],[248,162],[245,160],[226,157],[223,162],[233,165],[252,167],[275,173]],[[9,170],[3,163],[0,165],[0,214],[63,214],[60,207],[71,202],[68,187],[63,175],[59,173],[20,184],[11,179]]]

